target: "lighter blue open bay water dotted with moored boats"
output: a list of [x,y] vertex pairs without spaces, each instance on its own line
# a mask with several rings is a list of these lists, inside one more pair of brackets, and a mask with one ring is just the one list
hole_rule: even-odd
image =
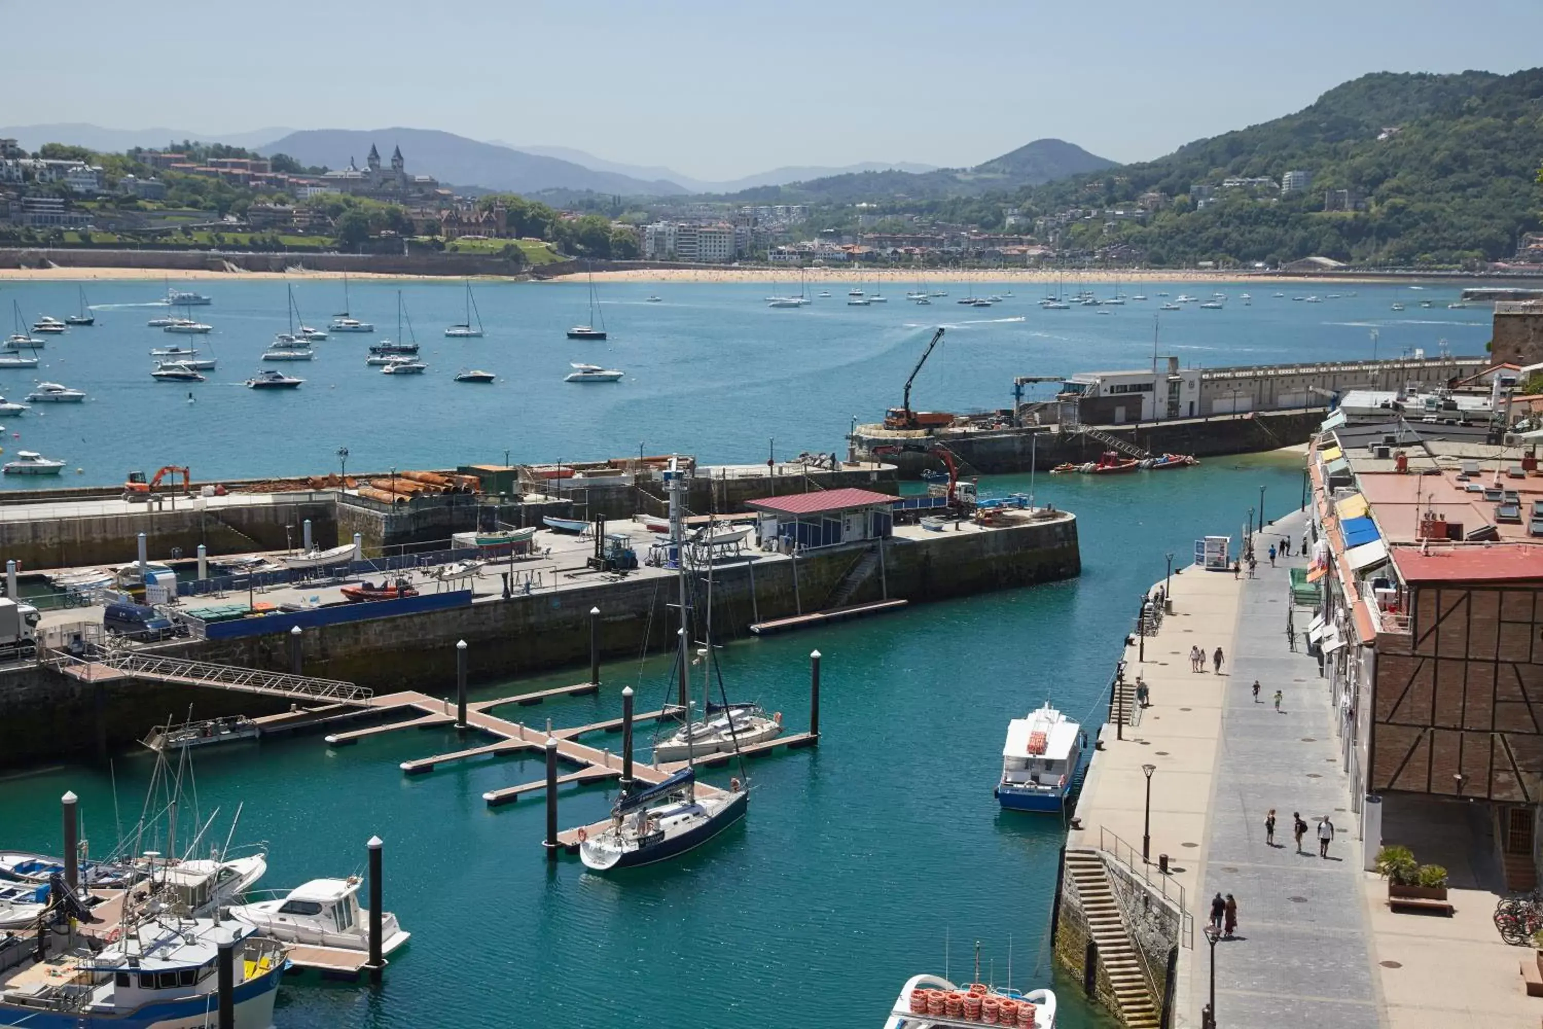
[[[188,285],[188,284],[184,284]],[[79,406],[43,406],[5,418],[8,450],[28,447],[68,461],[66,483],[120,483],[130,469],[185,464],[196,481],[248,475],[315,475],[349,467],[443,467],[458,463],[591,460],[691,452],[708,461],[761,461],[775,440],[781,457],[801,450],[844,452],[852,420],[873,421],[900,403],[901,384],[930,330],[947,327],[944,344],[917,378],[920,409],[989,409],[1011,401],[1012,376],[1142,367],[1153,355],[1153,316],[1160,290],[1177,296],[1211,292],[1233,296],[1225,310],[1162,313],[1160,353],[1185,364],[1259,364],[1349,359],[1424,347],[1446,339],[1455,353],[1481,353],[1489,338],[1486,309],[1447,310],[1450,285],[1359,285],[1358,296],[1293,302],[1290,298],[1350,287],[1268,284],[1145,284],[1151,298],[1125,307],[1042,310],[1040,287],[1018,282],[1017,295],[991,309],[960,307],[964,287],[930,307],[890,301],[847,307],[846,287],[805,309],[768,309],[772,284],[602,284],[606,342],[577,342],[563,330],[585,321],[585,287],[577,284],[489,282],[477,285],[488,335],[446,339],[463,316],[458,282],[403,285],[429,370],[389,376],[364,364],[366,346],[395,336],[397,285],[353,282],[350,309],[373,321],[378,336],[336,335],[316,344],[312,363],[282,370],[306,378],[296,392],[241,386],[261,367],[259,355],[285,329],[281,282],[194,282],[213,296],[193,313],[214,326],[208,336],[170,336],[145,322],[167,313],[148,305],[165,295],[157,279],[86,282],[97,315],[93,329],[52,336],[35,370],[0,370],[0,393],[20,400],[35,380],[83,389]],[[1009,287],[980,287],[978,293]],[[1126,293],[1139,290],[1126,287]],[[1253,293],[1253,305],[1237,299]],[[1276,299],[1275,292],[1287,296]],[[643,301],[659,293],[663,302]],[[1100,296],[1113,287],[1099,285]],[[326,326],[343,307],[338,281],[295,287],[312,326]],[[1432,299],[1432,309],[1418,307]],[[11,299],[25,318],[63,316],[76,309],[74,282],[0,285],[0,324]],[[1390,310],[1393,301],[1409,310]],[[1105,313],[1096,313],[1105,312]],[[9,330],[6,330],[9,332]],[[0,333],[5,335],[5,333]],[[150,349],[182,342],[213,353],[219,370],[187,386],[150,378]],[[626,372],[619,384],[563,383],[571,361]],[[491,387],[455,383],[463,367],[495,372]],[[187,403],[191,392],[193,404]],[[79,474],[74,469],[80,469]],[[43,484],[26,477],[0,489]]]

